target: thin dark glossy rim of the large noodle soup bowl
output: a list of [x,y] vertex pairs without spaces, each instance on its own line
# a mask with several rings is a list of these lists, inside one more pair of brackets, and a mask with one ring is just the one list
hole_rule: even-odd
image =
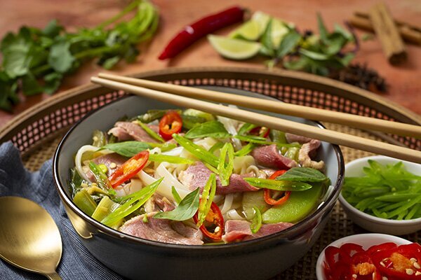
[[[224,87],[224,86],[218,85],[218,87]],[[227,87],[227,88],[232,89],[232,87]],[[251,91],[248,91],[248,90],[242,90],[242,91],[251,92]],[[256,92],[252,92],[252,93],[256,93]],[[69,131],[66,132],[65,136],[60,140],[60,143],[58,144],[58,147],[56,148],[55,153],[54,153],[54,157],[53,157],[53,179],[54,179],[54,183],[55,183],[55,188],[58,191],[58,194],[60,195],[62,202],[65,202],[65,204],[67,204],[67,207],[70,207],[72,209],[72,211],[74,211],[76,214],[78,214],[78,216],[80,218],[83,218],[84,221],[86,221],[87,223],[89,223],[89,224],[93,225],[95,228],[97,228],[99,230],[99,232],[102,232],[102,233],[104,233],[106,235],[109,235],[111,237],[116,237],[117,239],[121,239],[121,240],[124,240],[124,241],[130,241],[131,243],[134,243],[134,244],[148,245],[148,246],[154,246],[154,247],[159,247],[159,248],[185,249],[185,250],[189,250],[189,251],[194,251],[194,250],[218,250],[218,249],[222,250],[222,249],[227,249],[227,248],[235,248],[235,247],[239,247],[239,246],[251,246],[253,244],[262,244],[262,242],[269,241],[269,239],[275,240],[275,239],[277,239],[276,237],[278,237],[279,239],[280,238],[287,238],[288,234],[290,232],[294,232],[295,230],[299,230],[308,221],[312,221],[316,216],[319,216],[324,211],[329,209],[329,207],[332,206],[332,204],[335,204],[335,202],[336,202],[335,196],[336,196],[336,199],[338,199],[338,197],[339,197],[340,188],[342,187],[342,182],[344,180],[345,161],[344,161],[344,158],[343,158],[343,155],[342,155],[342,151],[340,150],[340,147],[336,144],[330,144],[330,145],[332,145],[333,150],[335,151],[336,159],[338,160],[338,178],[335,182],[335,186],[333,186],[333,191],[330,193],[329,197],[326,198],[327,203],[323,203],[321,207],[316,209],[316,211],[314,211],[312,214],[307,216],[305,219],[296,223],[292,227],[287,228],[286,230],[282,230],[281,232],[275,232],[272,235],[267,235],[265,237],[260,237],[260,238],[257,238],[257,239],[251,239],[251,240],[248,240],[248,241],[240,241],[240,242],[220,244],[220,245],[212,245],[212,246],[203,246],[203,245],[170,244],[170,243],[163,243],[163,242],[160,242],[160,241],[153,241],[153,240],[149,240],[149,239],[142,239],[140,237],[135,237],[133,235],[127,235],[126,233],[119,232],[118,230],[114,230],[113,228],[109,228],[106,225],[103,225],[102,223],[100,223],[98,221],[95,221],[93,218],[86,215],[83,211],[81,211],[81,209],[76,207],[76,204],[74,204],[74,202],[67,195],[67,192],[65,191],[64,186],[61,185],[60,179],[59,179],[59,176],[58,176],[58,158],[59,158],[59,155],[61,153],[62,146],[64,146],[65,141],[67,140],[67,137],[69,137],[69,135],[73,132],[74,129],[76,129],[76,127],[79,124],[81,124],[84,120],[89,118],[91,115],[93,115],[97,111],[100,111],[101,109],[105,109],[107,106],[111,106],[112,104],[114,104],[116,102],[119,102],[122,99],[125,99],[125,98],[128,98],[128,97],[133,97],[133,95],[128,94],[126,96],[119,97],[119,98],[113,100],[112,102],[109,102],[108,104],[105,104],[104,106],[100,106],[98,109],[95,109],[93,111],[90,111],[90,112],[86,113],[86,115],[83,116],[83,118],[81,118],[74,125],[72,125],[72,127],[69,129]],[[276,101],[279,101],[279,99],[276,99]],[[310,121],[313,122],[317,127],[320,127],[322,129],[326,129],[326,127],[324,127],[324,125],[322,125],[321,123],[319,123],[317,121],[314,121],[314,120],[310,120]]]

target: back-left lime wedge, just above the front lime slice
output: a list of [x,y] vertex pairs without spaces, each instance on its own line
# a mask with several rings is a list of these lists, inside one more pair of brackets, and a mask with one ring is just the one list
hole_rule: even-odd
[[269,15],[260,11],[255,12],[251,20],[243,23],[239,28],[232,31],[229,38],[241,38],[248,41],[257,41],[263,32],[265,32],[267,23],[269,22]]

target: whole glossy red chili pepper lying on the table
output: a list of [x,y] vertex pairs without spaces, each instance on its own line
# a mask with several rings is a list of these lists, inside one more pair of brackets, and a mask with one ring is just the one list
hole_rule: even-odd
[[239,6],[222,10],[220,13],[208,15],[205,18],[187,25],[168,43],[163,50],[159,59],[173,58],[178,55],[182,50],[185,50],[189,45],[199,40],[199,38],[213,33],[214,31],[233,25],[236,22],[243,21],[244,10]]

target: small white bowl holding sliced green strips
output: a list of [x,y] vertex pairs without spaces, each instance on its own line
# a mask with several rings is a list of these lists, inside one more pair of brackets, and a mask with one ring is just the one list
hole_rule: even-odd
[[[421,175],[421,165],[413,162],[406,162],[404,160],[397,160],[396,158],[385,157],[383,155],[374,155],[349,162],[345,165],[345,176],[363,176],[363,167],[368,167],[368,160],[375,160],[382,165],[390,165],[401,161],[408,172]],[[361,228],[370,232],[381,232],[388,235],[407,235],[421,230],[421,218],[399,221],[377,218],[354,208],[345,200],[342,193],[339,195],[339,201],[347,216]]]

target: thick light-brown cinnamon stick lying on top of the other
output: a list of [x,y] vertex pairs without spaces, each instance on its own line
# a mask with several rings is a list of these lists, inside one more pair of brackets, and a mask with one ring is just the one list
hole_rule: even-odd
[[406,48],[403,45],[401,35],[394,23],[392,15],[385,3],[377,3],[369,12],[375,34],[382,43],[383,52],[389,63],[399,64],[406,60]]

